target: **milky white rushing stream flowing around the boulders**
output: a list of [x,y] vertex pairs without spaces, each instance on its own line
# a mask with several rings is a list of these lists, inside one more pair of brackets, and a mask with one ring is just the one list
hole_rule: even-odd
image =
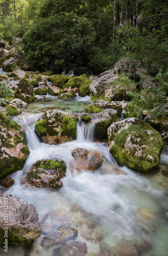
[[[168,166],[166,150],[161,155],[160,171],[140,175],[125,166],[118,166],[106,142],[93,142],[94,126],[85,126],[80,118],[77,140],[59,145],[40,142],[34,126],[42,113],[49,109],[80,113],[90,103],[89,97],[78,96],[66,100],[50,95],[46,97],[46,101],[39,99],[30,103],[28,109],[13,118],[26,129],[30,155],[23,169],[10,175],[15,183],[4,194],[35,205],[42,226],[52,225],[52,230],[55,230],[58,222],[64,227],[70,223],[78,230],[75,241],[86,242],[86,256],[112,256],[110,251],[121,243],[131,243],[141,248],[139,255],[167,256],[168,178],[161,173],[162,168]],[[95,172],[74,172],[72,175],[70,163],[74,162],[74,157],[71,152],[77,147],[101,152],[104,156],[103,167]],[[41,159],[65,161],[66,177],[62,179],[63,187],[60,190],[21,185],[24,172]],[[124,171],[125,175],[110,173],[110,165]],[[55,252],[55,245],[47,248],[42,245],[44,236],[42,232],[29,251],[22,247],[9,247],[9,255],[59,256]],[[0,254],[4,256],[6,252],[1,248]]]

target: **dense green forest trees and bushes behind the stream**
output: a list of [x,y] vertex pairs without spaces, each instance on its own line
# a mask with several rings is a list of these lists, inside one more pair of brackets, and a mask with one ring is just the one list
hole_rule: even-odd
[[166,72],[165,0],[0,0],[0,11],[0,33],[7,43],[21,37],[35,67],[54,62],[99,74],[131,57],[153,76]]

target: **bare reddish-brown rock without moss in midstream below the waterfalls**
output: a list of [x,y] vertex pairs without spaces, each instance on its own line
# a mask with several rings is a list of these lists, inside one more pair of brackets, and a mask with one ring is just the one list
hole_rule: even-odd
[[72,152],[72,155],[79,167],[84,170],[97,169],[103,163],[103,155],[93,150],[85,150],[85,148],[77,147]]

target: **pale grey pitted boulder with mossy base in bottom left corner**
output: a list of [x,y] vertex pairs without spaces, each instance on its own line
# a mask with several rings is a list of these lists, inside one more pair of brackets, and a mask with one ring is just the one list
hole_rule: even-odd
[[[6,203],[6,204],[5,204]],[[21,198],[0,196],[0,244],[4,245],[4,233],[8,233],[8,245],[27,246],[40,237],[41,225],[35,206]],[[4,209],[8,205],[8,225],[4,225]],[[4,229],[4,227],[7,227]]]

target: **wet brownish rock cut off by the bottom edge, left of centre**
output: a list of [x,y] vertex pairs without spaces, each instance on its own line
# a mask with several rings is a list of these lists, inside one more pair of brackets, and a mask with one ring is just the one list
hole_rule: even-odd
[[87,253],[87,245],[85,242],[69,242],[55,250],[54,255],[60,256],[84,256]]

